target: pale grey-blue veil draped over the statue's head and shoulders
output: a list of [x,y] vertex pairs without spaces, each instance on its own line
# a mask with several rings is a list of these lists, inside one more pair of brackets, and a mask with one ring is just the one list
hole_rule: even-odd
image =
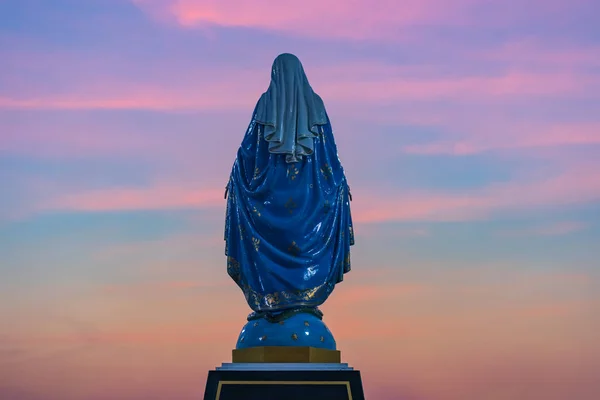
[[318,126],[327,124],[327,114],[295,55],[280,54],[273,62],[271,84],[258,101],[256,121],[264,125],[269,151],[286,154],[288,163],[313,153],[313,138]]

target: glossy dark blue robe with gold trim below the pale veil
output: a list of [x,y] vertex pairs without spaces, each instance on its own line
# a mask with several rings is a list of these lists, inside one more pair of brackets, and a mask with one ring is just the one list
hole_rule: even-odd
[[348,184],[326,114],[313,151],[289,163],[270,151],[259,105],[227,186],[227,272],[255,312],[316,307],[350,271]]

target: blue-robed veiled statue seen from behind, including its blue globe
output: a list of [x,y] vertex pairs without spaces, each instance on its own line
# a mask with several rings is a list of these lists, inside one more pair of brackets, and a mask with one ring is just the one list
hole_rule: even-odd
[[292,54],[273,62],[225,198],[227,272],[253,311],[236,348],[335,350],[318,306],[350,271],[351,195],[323,101]]

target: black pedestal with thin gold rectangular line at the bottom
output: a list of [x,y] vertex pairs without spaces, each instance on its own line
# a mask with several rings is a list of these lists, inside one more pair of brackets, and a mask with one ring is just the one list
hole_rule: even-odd
[[204,400],[364,400],[360,372],[347,370],[209,371]]

